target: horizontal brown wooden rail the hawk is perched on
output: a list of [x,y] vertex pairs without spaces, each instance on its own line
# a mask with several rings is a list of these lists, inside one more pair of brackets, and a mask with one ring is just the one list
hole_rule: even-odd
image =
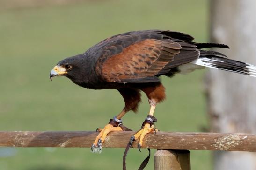
[[[135,132],[111,132],[105,148],[125,148]],[[98,132],[1,131],[0,147],[91,147]],[[138,146],[138,141],[133,144]],[[145,137],[143,148],[182,150],[228,150],[256,152],[255,134],[157,132]]]

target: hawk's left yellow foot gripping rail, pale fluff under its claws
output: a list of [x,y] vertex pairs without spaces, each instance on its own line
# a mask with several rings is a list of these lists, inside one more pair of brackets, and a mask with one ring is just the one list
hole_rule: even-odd
[[111,124],[107,124],[103,129],[97,129],[99,131],[99,135],[96,137],[91,150],[95,153],[101,153],[102,151],[102,143],[105,141],[106,136],[113,131],[122,131],[121,127],[114,127]]

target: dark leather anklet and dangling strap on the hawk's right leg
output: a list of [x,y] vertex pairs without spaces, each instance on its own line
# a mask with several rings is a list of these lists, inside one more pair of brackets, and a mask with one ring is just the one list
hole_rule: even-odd
[[[149,123],[150,126],[151,126],[151,125],[153,125],[153,123],[156,122],[156,121],[157,121],[157,119],[156,119],[154,116],[148,115],[148,116],[146,117],[145,121],[142,123],[141,128],[144,127],[145,123]],[[139,132],[139,131],[137,131],[137,132]],[[136,133],[137,133],[137,132],[136,132]],[[136,134],[136,133],[135,133],[135,134]],[[126,170],[126,162],[125,162],[125,161],[126,161],[126,156],[127,156],[128,151],[129,151],[129,149],[130,149],[131,147],[132,147],[132,143],[129,142],[129,143],[127,144],[126,148],[125,148],[125,151],[124,151],[124,156],[123,156],[123,170]],[[144,159],[144,161],[140,164],[138,170],[143,170],[143,169],[146,167],[146,165],[147,165],[147,163],[148,163],[148,161],[149,161],[149,159],[150,159],[150,149],[147,148],[147,150],[148,150],[149,154],[148,154],[148,156],[146,157],[146,159]]]

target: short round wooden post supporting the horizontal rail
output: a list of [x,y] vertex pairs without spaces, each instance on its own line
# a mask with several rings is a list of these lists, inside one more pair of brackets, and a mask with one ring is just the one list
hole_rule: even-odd
[[154,170],[190,170],[189,150],[157,150]]

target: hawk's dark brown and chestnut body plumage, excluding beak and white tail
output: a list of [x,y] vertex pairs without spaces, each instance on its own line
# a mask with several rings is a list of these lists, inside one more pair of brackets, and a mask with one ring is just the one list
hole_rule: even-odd
[[[161,87],[160,75],[173,75],[176,67],[199,57],[196,45],[224,47],[213,43],[194,43],[193,37],[173,31],[146,30],[112,36],[79,54],[60,61],[58,66],[71,66],[63,74],[74,83],[91,89],[118,89],[124,97],[125,110],[136,111],[140,101],[139,91],[147,87]],[[154,97],[157,102],[164,98],[161,87]],[[129,91],[125,95],[124,91]],[[151,90],[152,91],[152,90]],[[135,96],[136,100],[132,96]]]

